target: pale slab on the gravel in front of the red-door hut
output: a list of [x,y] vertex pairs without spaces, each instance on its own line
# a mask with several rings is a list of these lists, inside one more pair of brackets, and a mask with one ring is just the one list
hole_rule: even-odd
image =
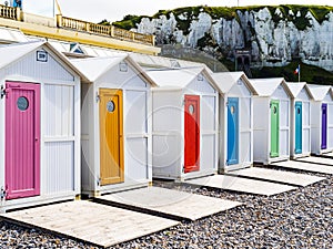
[[214,175],[196,179],[186,180],[185,183],[212,188],[220,188],[254,195],[272,196],[284,191],[296,189],[289,185],[268,183],[263,180],[246,179],[235,176]]

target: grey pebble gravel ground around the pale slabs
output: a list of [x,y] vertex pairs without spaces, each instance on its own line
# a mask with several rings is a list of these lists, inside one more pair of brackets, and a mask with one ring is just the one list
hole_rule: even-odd
[[[273,197],[155,183],[245,205],[112,248],[333,248],[333,176],[311,175],[327,179]],[[0,248],[95,247],[2,222]]]

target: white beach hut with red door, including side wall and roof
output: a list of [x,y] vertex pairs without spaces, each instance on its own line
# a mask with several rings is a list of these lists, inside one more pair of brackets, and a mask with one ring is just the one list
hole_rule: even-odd
[[204,68],[152,70],[153,177],[218,172],[219,90]]

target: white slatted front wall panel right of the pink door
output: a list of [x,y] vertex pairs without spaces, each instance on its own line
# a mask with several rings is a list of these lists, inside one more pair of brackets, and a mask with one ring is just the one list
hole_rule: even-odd
[[46,194],[74,190],[74,86],[44,85]]

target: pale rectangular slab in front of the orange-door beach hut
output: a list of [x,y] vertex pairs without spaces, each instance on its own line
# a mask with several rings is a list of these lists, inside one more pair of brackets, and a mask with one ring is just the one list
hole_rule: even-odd
[[242,205],[238,201],[161,187],[104,195],[95,200],[178,220],[196,220]]

